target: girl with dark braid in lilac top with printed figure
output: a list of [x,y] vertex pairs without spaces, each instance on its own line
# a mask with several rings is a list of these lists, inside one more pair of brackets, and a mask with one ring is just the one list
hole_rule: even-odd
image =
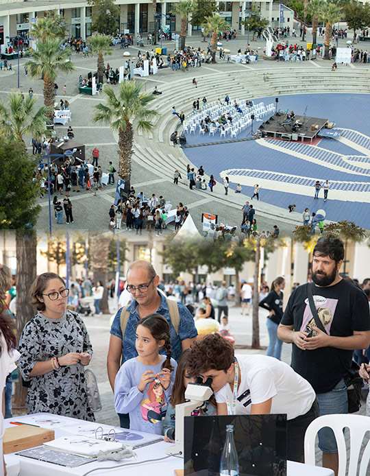
[[[160,355],[161,348],[167,356]],[[130,429],[162,435],[177,367],[163,316],[153,313],[138,322],[136,350],[138,357],[125,361],[116,375],[114,406],[116,412],[130,413]]]

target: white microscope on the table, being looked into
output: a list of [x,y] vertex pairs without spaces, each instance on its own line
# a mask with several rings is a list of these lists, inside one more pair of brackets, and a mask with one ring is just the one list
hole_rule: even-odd
[[184,417],[191,416],[193,410],[209,400],[213,394],[211,384],[211,378],[203,382],[201,377],[198,377],[195,383],[188,383],[185,391],[187,401],[175,407],[175,445],[167,449],[168,455],[184,457]]

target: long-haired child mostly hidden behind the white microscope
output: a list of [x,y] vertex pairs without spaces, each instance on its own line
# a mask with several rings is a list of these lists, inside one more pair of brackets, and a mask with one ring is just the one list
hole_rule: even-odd
[[[185,390],[189,382],[195,379],[188,374],[188,354],[190,349],[184,350],[177,366],[175,383],[173,383],[172,395],[167,408],[166,419],[163,424],[164,441],[174,442],[175,440],[175,406],[185,402]],[[202,407],[193,410],[193,415],[214,415],[217,413],[214,396],[206,401]]]

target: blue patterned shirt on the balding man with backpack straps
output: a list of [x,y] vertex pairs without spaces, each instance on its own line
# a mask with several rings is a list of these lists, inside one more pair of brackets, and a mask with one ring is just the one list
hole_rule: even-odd
[[[167,305],[167,299],[161,293],[158,293],[160,296],[160,307],[156,310],[161,316],[167,319],[170,326],[170,335],[171,335],[171,350],[173,359],[176,361],[180,358],[182,353],[181,343],[185,339],[193,339],[197,337],[197,329],[195,329],[193,316],[190,314],[186,306],[177,302],[177,307],[180,313],[180,325],[179,325],[179,335],[177,335],[175,328],[172,325],[171,318],[169,315],[169,306]],[[138,353],[136,351],[135,342],[136,342],[136,324],[140,320],[138,314],[138,303],[136,300],[132,302],[127,311],[130,311],[130,318],[127,322],[125,335],[122,340],[122,354],[123,362],[133,357],[137,357]],[[123,308],[117,311],[116,316],[114,317],[112,328],[110,333],[116,335],[122,339],[121,331],[121,311]],[[165,353],[165,350],[162,350],[161,353]]]

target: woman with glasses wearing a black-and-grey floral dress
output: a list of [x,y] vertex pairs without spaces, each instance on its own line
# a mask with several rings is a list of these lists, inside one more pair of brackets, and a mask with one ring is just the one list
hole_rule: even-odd
[[27,386],[27,414],[48,412],[94,420],[84,366],[93,347],[80,316],[66,309],[69,289],[58,274],[40,274],[29,291],[38,313],[19,340],[17,365]]

